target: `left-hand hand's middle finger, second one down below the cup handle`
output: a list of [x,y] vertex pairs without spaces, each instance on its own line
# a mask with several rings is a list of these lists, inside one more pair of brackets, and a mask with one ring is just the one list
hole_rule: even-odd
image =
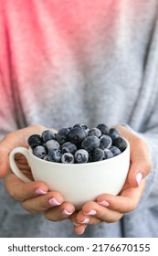
[[23,201],[23,207],[31,212],[43,212],[49,208],[60,206],[64,202],[64,198],[57,191],[47,192],[46,195],[39,197],[31,197]]

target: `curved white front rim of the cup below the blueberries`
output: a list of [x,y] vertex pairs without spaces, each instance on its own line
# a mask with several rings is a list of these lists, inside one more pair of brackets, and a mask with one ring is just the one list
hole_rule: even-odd
[[[121,136],[122,137],[122,136]],[[109,159],[104,159],[104,160],[101,160],[101,161],[96,161],[96,162],[90,162],[90,163],[83,163],[83,164],[77,164],[77,163],[73,163],[73,164],[63,164],[63,163],[57,163],[57,162],[50,162],[50,161],[47,161],[47,160],[45,160],[45,159],[41,159],[41,158],[39,158],[39,157],[37,157],[36,155],[34,155],[33,154],[33,150],[32,150],[32,148],[29,146],[29,148],[28,148],[28,151],[29,151],[29,153],[31,154],[31,157],[33,158],[33,159],[35,159],[35,160],[37,160],[37,161],[39,161],[39,162],[41,162],[41,163],[44,163],[44,162],[46,162],[48,165],[60,165],[60,166],[64,166],[64,165],[67,165],[67,166],[79,166],[79,165],[81,165],[82,167],[84,166],[84,165],[98,165],[99,163],[104,163],[105,161],[106,161],[106,163],[107,162],[110,162],[110,161],[112,161],[112,160],[114,160],[114,159],[118,159],[118,158],[120,158],[120,157],[122,157],[122,155],[124,155],[126,152],[127,152],[127,150],[130,150],[130,143],[124,138],[124,137],[122,137],[124,140],[125,140],[125,142],[126,142],[126,144],[127,144],[127,147],[124,149],[124,151],[123,152],[121,152],[121,154],[120,155],[115,155],[114,157],[111,157],[111,158],[109,158]]]

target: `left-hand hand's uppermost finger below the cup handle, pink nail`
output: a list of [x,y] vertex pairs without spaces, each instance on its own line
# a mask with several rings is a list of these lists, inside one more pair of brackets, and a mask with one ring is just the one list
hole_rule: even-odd
[[24,201],[38,195],[45,195],[48,191],[45,183],[37,181],[25,183],[13,173],[5,176],[5,189],[11,197],[18,201]]

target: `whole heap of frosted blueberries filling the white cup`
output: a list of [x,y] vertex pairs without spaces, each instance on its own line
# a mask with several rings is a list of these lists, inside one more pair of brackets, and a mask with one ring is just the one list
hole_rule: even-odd
[[60,129],[58,133],[45,130],[41,135],[31,135],[28,144],[37,157],[64,164],[109,159],[120,155],[127,146],[117,129],[110,129],[103,123],[92,129],[77,123],[73,127]]

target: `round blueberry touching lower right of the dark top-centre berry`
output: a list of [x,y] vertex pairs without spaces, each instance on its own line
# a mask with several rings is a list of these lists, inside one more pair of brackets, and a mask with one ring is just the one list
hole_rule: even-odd
[[92,151],[94,148],[99,146],[100,146],[100,139],[95,135],[86,137],[81,144],[81,147],[87,150],[88,152]]

